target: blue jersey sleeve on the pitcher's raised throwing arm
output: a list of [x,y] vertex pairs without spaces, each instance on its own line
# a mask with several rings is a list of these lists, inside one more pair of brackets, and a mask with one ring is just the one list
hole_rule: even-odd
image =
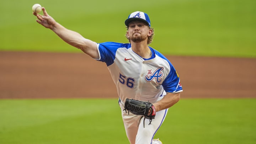
[[129,44],[115,43],[115,42],[105,42],[99,43],[98,50],[100,52],[99,61],[105,62],[107,66],[114,63],[116,58],[116,51],[118,48],[129,47]]

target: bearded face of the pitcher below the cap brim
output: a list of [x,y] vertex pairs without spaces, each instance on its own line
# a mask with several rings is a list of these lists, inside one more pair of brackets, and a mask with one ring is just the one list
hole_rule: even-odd
[[127,35],[130,38],[130,41],[139,43],[142,41],[147,41],[148,37],[151,36],[152,30],[141,21],[132,21],[129,23]]

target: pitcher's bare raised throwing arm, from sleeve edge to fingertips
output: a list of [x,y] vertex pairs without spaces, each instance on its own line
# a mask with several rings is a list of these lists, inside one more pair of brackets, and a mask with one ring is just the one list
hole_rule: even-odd
[[51,16],[46,12],[46,9],[43,7],[43,15],[39,15],[33,12],[33,15],[37,16],[37,22],[42,26],[51,29],[55,32],[63,41],[81,49],[84,53],[90,55],[92,58],[100,58],[96,46],[96,42],[93,42],[89,39],[86,39],[81,36],[81,34],[68,30],[58,22],[56,22]]

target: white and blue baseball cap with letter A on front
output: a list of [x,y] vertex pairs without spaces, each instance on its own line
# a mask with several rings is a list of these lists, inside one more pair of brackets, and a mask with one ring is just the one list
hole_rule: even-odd
[[141,11],[135,11],[132,14],[128,16],[126,21],[124,22],[126,26],[129,26],[129,23],[134,20],[140,20],[146,22],[148,26],[150,26],[150,19],[148,14],[141,12]]

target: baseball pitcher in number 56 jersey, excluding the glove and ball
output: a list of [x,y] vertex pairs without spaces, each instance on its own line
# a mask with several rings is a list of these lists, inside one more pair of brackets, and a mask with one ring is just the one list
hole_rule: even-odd
[[[37,22],[55,32],[66,43],[81,49],[95,60],[105,62],[117,87],[124,128],[131,144],[162,144],[154,135],[165,119],[168,108],[180,100],[180,78],[168,59],[149,47],[154,35],[149,16],[133,12],[124,22],[129,43],[96,43],[57,23],[43,7]],[[123,111],[127,98],[154,105],[155,117],[140,121],[141,116]],[[152,113],[151,113],[152,114]]]

